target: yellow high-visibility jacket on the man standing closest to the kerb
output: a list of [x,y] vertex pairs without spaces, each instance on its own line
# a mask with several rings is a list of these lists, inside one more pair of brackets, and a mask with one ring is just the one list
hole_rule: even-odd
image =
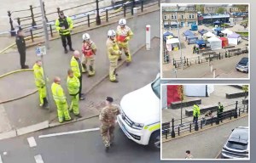
[[56,103],[66,103],[66,96],[60,84],[55,82],[51,85],[52,96]]

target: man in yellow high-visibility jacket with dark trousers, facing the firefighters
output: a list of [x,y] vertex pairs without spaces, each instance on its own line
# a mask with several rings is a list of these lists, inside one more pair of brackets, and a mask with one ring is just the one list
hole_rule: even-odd
[[70,61],[71,70],[73,70],[73,75],[79,78],[80,87],[79,87],[79,99],[84,100],[84,93],[82,93],[82,65],[80,61],[80,53],[78,50],[73,52],[73,57]]

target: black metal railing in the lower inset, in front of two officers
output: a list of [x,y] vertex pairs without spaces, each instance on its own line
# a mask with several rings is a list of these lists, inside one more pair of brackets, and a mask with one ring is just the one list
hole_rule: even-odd
[[[238,105],[239,104],[239,105]],[[232,106],[231,110],[227,110],[228,107]],[[235,107],[235,108],[234,108]],[[235,104],[229,104],[224,106],[224,112],[218,113],[218,109],[212,110],[217,111],[216,114],[212,113],[211,117],[202,117],[198,118],[198,121],[187,121],[183,122],[184,120],[188,120],[190,117],[184,117],[182,119],[174,120],[172,118],[172,121],[168,121],[165,123],[162,123],[162,139],[172,139],[172,138],[178,138],[184,135],[187,135],[191,132],[197,132],[199,130],[202,130],[204,127],[207,126],[213,126],[219,125],[220,123],[224,123],[224,120],[231,120],[232,118],[240,117],[241,115],[247,115],[248,114],[248,104],[242,104],[241,102],[236,101]],[[180,122],[180,123],[179,123]]]

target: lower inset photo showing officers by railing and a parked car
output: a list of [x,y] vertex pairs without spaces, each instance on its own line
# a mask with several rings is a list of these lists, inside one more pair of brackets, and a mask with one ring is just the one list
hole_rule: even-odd
[[161,85],[161,160],[249,160],[249,85]]

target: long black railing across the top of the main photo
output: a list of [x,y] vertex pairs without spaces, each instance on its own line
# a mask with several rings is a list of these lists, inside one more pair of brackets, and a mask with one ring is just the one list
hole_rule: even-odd
[[[57,31],[55,30],[55,19],[57,19],[58,13],[62,10],[64,13],[68,13],[73,9],[79,9],[83,10],[83,12],[80,12],[78,14],[73,15],[67,15],[73,20],[73,29],[79,28],[79,27],[85,27],[86,25],[90,27],[90,25],[101,25],[102,21],[108,22],[110,19],[113,19],[115,17],[124,16],[126,17],[127,14],[133,15],[133,8],[137,8],[138,10],[143,10],[145,8],[150,8],[152,6],[158,5],[160,6],[160,0],[131,0],[123,1],[123,3],[114,5],[114,6],[107,6],[103,7],[104,0],[96,0],[92,3],[84,3],[80,4],[79,6],[75,6],[73,8],[57,8],[55,12],[46,12],[45,10],[45,4],[44,6],[44,14],[45,14],[45,20],[47,21],[48,26],[48,33],[51,37],[54,37],[55,33]],[[96,6],[95,9],[92,10],[86,10],[86,7],[92,5]],[[26,33],[26,37],[31,37],[32,42],[34,42],[34,37],[44,37],[44,29],[42,24],[42,14],[41,12],[36,12],[37,7],[32,7],[30,5],[30,8],[23,9],[19,11],[8,11],[9,16],[9,23],[10,23],[10,34],[11,36],[15,36],[15,33],[18,29],[23,29]],[[116,9],[118,8],[118,9]],[[12,14],[14,13],[20,13],[20,12],[29,12],[30,15],[23,16],[23,17],[17,17],[12,18]],[[17,20],[19,28],[15,29],[13,23],[14,20]],[[3,32],[6,33],[6,32]],[[1,34],[1,33],[0,33]]]

